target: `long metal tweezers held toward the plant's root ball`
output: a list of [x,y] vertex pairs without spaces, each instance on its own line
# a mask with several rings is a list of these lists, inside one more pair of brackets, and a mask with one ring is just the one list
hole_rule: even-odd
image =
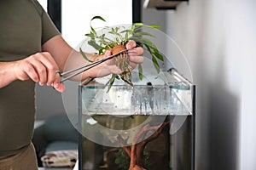
[[69,73],[72,73],[72,72],[74,72],[74,71],[79,71],[79,70],[83,69],[82,71],[76,72],[76,73],[74,73],[73,75],[70,75],[70,76],[68,76],[68,77],[65,77],[65,78],[61,79],[61,82],[65,82],[66,80],[68,80],[68,79],[70,79],[70,78],[72,78],[72,77],[78,76],[78,75],[81,74],[82,72],[88,71],[88,70],[90,70],[91,68],[95,67],[96,65],[99,65],[99,64],[101,64],[101,63],[107,61],[108,59],[113,59],[113,57],[115,57],[115,56],[117,56],[117,55],[119,55],[119,54],[125,53],[125,52],[127,52],[127,51],[128,51],[128,49],[124,49],[124,50],[122,50],[122,51],[119,51],[119,53],[117,53],[117,54],[110,55],[110,56],[108,56],[107,58],[97,60],[97,61],[95,61],[95,62],[93,62],[93,63],[90,63],[90,64],[88,64],[88,65],[80,66],[80,67],[75,68],[75,69],[70,70],[70,71],[65,71],[65,72],[62,72],[62,73],[61,73],[60,71],[56,71],[56,72],[59,73],[61,77],[64,77],[65,75],[67,75],[67,74],[69,74]]

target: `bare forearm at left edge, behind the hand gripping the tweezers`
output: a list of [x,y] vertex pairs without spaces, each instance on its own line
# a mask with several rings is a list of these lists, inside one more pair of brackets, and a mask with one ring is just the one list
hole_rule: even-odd
[[9,83],[14,82],[17,79],[15,76],[14,64],[15,61],[0,62],[0,88],[9,85]]

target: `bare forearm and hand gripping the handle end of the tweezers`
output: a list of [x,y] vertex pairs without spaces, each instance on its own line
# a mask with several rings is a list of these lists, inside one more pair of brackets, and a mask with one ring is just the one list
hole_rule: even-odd
[[58,82],[55,71],[59,70],[59,67],[47,52],[32,54],[16,61],[0,62],[0,68],[0,88],[15,80],[32,79],[34,82],[39,82],[41,86],[45,83],[53,86],[54,82]]

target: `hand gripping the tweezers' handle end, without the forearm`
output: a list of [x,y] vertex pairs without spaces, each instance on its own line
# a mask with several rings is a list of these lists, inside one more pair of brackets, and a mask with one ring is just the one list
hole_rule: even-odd
[[59,74],[56,74],[59,67],[55,63],[55,59],[47,52],[32,54],[26,59],[15,61],[13,68],[16,79],[21,81],[32,79],[32,81],[38,82],[40,86],[46,84],[59,92],[65,90],[60,82]]

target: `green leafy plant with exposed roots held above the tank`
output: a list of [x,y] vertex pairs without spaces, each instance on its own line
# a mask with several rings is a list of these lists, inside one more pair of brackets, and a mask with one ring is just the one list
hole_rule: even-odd
[[[107,30],[107,32],[99,34],[96,31],[96,28],[92,26],[93,20],[104,20],[101,16],[94,16],[90,20],[90,33],[85,34],[85,37],[89,37],[88,44],[95,48],[97,54],[104,54],[106,50],[111,50],[112,54],[116,54],[119,51],[125,49],[125,44],[130,40],[134,40],[137,42],[138,45],[144,48],[144,50],[148,51],[151,55],[151,60],[154,64],[154,68],[159,73],[160,72],[160,65],[158,63],[158,59],[160,61],[164,60],[164,57],[160,54],[158,48],[154,45],[154,42],[150,41],[147,37],[154,37],[152,34],[143,31],[143,23],[135,23],[129,26],[128,28],[125,26],[104,26],[101,28],[102,30]],[[150,25],[146,26],[148,28],[156,29],[160,26],[158,25]],[[79,48],[80,53],[83,55],[84,59],[92,62],[88,59],[82,48]],[[122,79],[123,81],[127,82],[131,86],[133,83],[131,82],[131,67],[129,65],[129,58],[127,53],[119,54],[117,57],[113,58],[115,64],[119,67],[119,70],[122,71],[120,75],[113,74],[111,79],[108,82],[108,90],[112,87],[113,82],[115,79]],[[139,78],[143,79],[143,66],[138,65],[138,74]]]

